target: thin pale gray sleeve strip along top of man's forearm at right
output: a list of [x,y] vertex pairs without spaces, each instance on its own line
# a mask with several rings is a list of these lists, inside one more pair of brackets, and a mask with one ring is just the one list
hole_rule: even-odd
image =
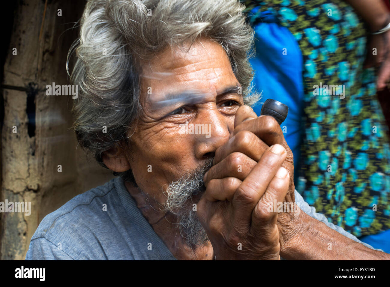
[[316,213],[316,208],[309,206],[308,203],[305,202],[305,200],[303,200],[303,197],[300,195],[300,193],[298,193],[298,191],[296,191],[296,190],[295,190],[295,202],[299,206],[301,211],[303,211],[307,215],[311,216],[312,218],[315,218],[316,220],[319,220],[319,221],[325,223],[326,226],[332,228],[333,230],[336,230],[337,232],[344,235],[345,237],[348,237],[356,242],[362,243],[364,246],[366,246],[368,248],[383,252],[383,250],[381,250],[381,249],[376,249],[376,248],[372,247],[371,245],[360,241],[359,239],[357,239],[356,236],[345,231],[342,227],[334,225],[332,222],[328,222],[328,220],[326,219],[326,216],[324,214],[321,214],[321,213]]

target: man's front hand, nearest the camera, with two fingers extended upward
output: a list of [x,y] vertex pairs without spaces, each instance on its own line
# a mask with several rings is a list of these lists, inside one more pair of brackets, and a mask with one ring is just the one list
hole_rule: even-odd
[[[197,216],[216,259],[280,259],[278,214],[269,212],[268,202],[282,201],[288,191],[289,173],[281,167],[286,156],[281,145],[269,147],[258,163],[233,152],[209,170],[215,177],[205,182]],[[235,172],[239,165],[249,173],[245,179]]]

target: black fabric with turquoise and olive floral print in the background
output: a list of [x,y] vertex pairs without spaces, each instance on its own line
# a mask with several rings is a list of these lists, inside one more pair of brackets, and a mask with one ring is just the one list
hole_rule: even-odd
[[[375,71],[363,69],[364,22],[342,0],[242,2],[252,26],[262,11],[278,15],[303,55],[305,133],[296,190],[329,222],[357,237],[389,229],[388,128],[376,97]],[[335,88],[315,92],[315,85]]]

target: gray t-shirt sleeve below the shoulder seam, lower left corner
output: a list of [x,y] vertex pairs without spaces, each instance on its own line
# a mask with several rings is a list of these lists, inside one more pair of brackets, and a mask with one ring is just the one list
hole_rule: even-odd
[[26,260],[73,260],[61,250],[60,246],[48,241],[46,238],[39,237],[30,242],[26,254]]

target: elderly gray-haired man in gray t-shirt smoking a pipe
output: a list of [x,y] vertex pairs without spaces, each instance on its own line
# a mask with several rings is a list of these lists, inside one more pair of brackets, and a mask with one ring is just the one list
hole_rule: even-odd
[[46,216],[26,259],[390,258],[294,191],[280,126],[249,106],[259,96],[242,10],[236,0],[87,3],[74,128],[119,177]]

